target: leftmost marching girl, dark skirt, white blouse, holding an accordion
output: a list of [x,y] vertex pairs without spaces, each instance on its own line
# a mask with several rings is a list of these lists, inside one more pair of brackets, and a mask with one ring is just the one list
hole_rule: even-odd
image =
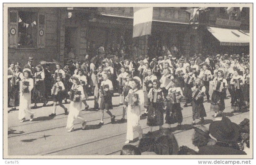
[[20,66],[15,65],[15,73],[13,77],[17,77],[14,82],[11,82],[12,93],[10,99],[10,106],[13,108],[10,111],[16,111],[16,107],[19,106],[19,81],[24,78],[23,73],[21,73]]

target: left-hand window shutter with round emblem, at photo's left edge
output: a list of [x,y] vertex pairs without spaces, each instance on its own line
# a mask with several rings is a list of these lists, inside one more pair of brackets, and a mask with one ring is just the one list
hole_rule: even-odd
[[18,47],[18,11],[10,10],[8,14],[8,46]]

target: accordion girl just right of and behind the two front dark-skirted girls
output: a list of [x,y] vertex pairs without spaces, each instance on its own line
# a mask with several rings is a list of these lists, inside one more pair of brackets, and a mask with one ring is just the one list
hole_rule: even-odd
[[[190,66],[187,66],[187,73],[183,76],[183,78],[185,80],[187,80],[187,78],[192,77],[192,78],[196,78],[196,75],[192,72],[192,69]],[[187,107],[188,103],[192,102],[192,90],[191,88],[193,87],[193,81],[191,80],[189,83],[185,82],[184,84],[184,97],[186,100],[186,103],[184,104],[184,107]]]

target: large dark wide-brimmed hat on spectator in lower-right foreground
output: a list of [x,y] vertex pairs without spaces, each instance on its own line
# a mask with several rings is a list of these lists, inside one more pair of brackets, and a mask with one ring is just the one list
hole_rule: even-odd
[[209,126],[211,135],[221,142],[235,142],[239,138],[239,126],[225,116],[220,121],[214,121]]

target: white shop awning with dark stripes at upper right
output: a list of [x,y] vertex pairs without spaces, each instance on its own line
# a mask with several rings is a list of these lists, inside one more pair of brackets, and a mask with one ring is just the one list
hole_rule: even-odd
[[220,45],[226,46],[248,46],[250,41],[249,33],[236,29],[225,29],[219,27],[207,27],[207,30],[217,38]]

